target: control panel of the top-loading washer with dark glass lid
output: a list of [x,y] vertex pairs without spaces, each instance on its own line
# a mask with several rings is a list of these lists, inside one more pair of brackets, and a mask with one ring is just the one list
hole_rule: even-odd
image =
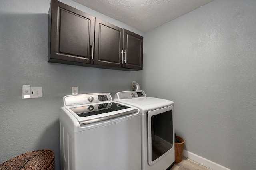
[[110,93],[92,93],[82,95],[68,95],[63,97],[63,101],[65,106],[72,106],[112,101],[112,98]]

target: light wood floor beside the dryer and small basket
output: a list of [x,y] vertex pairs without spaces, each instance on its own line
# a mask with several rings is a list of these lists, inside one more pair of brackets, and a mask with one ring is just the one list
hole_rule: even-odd
[[[196,162],[194,160],[192,161]],[[198,165],[193,162],[190,162],[187,158],[182,156],[182,161],[180,163],[175,163],[170,170],[210,170],[205,166]]]

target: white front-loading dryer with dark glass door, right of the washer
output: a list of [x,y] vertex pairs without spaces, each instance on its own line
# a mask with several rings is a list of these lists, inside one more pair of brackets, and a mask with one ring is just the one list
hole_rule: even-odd
[[140,110],[142,170],[170,169],[175,161],[174,103],[146,97],[142,90],[118,92],[114,101]]

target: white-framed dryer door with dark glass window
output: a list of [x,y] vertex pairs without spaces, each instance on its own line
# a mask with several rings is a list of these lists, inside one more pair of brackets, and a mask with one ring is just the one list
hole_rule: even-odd
[[153,165],[173,146],[172,110],[148,112],[148,160]]

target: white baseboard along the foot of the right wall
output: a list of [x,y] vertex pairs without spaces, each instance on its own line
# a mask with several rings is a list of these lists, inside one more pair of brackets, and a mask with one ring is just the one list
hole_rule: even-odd
[[220,164],[217,164],[215,162],[212,162],[211,160],[208,160],[206,158],[203,158],[202,156],[198,156],[196,154],[193,154],[192,152],[189,152],[187,150],[183,150],[182,154],[186,156],[187,158],[190,158],[200,164],[203,164],[213,170],[230,170]]

